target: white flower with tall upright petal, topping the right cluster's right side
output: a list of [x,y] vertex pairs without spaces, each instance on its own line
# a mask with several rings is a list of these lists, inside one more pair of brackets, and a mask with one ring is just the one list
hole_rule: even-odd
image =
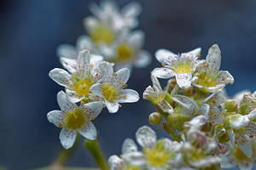
[[199,68],[191,82],[203,93],[220,93],[226,84],[232,84],[234,78],[229,71],[218,71],[221,62],[220,49],[217,44],[209,48],[207,64]]

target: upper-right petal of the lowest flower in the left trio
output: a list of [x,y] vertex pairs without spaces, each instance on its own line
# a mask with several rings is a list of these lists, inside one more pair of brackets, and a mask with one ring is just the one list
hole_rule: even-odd
[[83,111],[86,111],[87,119],[91,120],[92,118],[96,118],[102,112],[102,102],[90,102],[88,104],[84,104],[80,106]]

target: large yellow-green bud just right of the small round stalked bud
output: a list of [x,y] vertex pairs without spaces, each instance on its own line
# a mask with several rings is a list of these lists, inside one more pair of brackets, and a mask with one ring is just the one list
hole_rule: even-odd
[[170,124],[171,127],[176,128],[178,131],[182,131],[184,129],[184,122],[189,122],[191,117],[185,115],[169,115],[167,116],[167,124]]

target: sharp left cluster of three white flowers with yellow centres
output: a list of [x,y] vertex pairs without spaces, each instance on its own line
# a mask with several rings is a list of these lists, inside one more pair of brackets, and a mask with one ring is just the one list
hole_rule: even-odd
[[[96,139],[96,127],[91,123],[107,106],[110,113],[119,110],[119,103],[137,102],[139,94],[126,89],[130,71],[127,68],[113,72],[113,65],[102,56],[79,51],[76,63],[66,63],[67,71],[55,68],[49,77],[65,88],[57,94],[61,111],[50,111],[49,122],[62,127],[60,139],[65,149],[73,146],[76,133],[86,139]],[[69,71],[69,72],[68,72]],[[80,102],[80,105],[76,103]]]

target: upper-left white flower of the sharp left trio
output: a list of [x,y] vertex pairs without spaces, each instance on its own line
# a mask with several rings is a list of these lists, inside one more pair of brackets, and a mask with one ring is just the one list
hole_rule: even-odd
[[90,87],[102,81],[102,74],[98,61],[101,59],[90,59],[90,52],[83,50],[79,52],[79,57],[76,60],[75,69],[73,65],[67,64],[68,71],[73,72],[70,75],[63,69],[55,68],[49,71],[49,77],[61,86],[66,88],[68,99],[77,103],[82,99],[94,100],[93,95],[90,94]]

